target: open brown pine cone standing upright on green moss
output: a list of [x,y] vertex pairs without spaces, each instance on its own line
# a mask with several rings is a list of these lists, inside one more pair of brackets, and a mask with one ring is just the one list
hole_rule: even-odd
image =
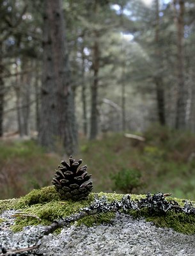
[[61,161],[61,165],[58,166],[59,170],[56,170],[52,179],[52,184],[55,186],[61,199],[84,200],[93,189],[91,175],[88,175],[86,172],[86,165],[77,170],[82,163],[81,159],[75,161],[70,156],[69,161],[70,164],[66,163],[66,161]]

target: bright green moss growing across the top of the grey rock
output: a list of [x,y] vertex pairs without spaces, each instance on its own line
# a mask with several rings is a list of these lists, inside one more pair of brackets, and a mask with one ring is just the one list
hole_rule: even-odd
[[[58,193],[54,186],[45,187],[42,189],[34,189],[26,196],[15,198],[12,200],[0,200],[0,212],[6,209],[18,209],[26,214],[38,216],[41,221],[31,216],[17,217],[14,231],[22,230],[27,225],[50,225],[52,221],[58,220],[61,217],[70,216],[79,209],[90,205],[94,200],[94,193],[91,193],[88,200],[80,202],[72,202],[71,200],[60,201]],[[105,196],[109,202],[113,200],[121,200],[123,195],[116,193],[98,193],[98,196]],[[141,199],[144,195],[132,195],[132,200]],[[178,204],[183,206],[183,200],[177,198],[170,198],[176,200]],[[141,211],[129,211],[129,214],[134,218],[145,218],[146,221],[152,221],[157,227],[170,227],[183,234],[195,234],[195,216],[184,213],[167,212],[159,216],[148,211],[148,209],[141,209]],[[100,223],[108,223],[114,218],[113,212],[105,214],[97,214],[95,216],[87,216],[78,221],[78,224],[84,223],[87,226]]]

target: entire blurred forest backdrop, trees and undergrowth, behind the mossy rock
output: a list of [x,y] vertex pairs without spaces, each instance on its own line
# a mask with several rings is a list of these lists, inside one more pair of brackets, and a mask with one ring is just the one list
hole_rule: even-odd
[[0,198],[51,184],[74,154],[95,191],[195,199],[194,0],[0,0],[0,13]]

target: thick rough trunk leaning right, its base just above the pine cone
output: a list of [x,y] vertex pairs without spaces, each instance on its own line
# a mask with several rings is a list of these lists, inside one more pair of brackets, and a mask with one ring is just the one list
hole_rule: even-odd
[[49,17],[54,60],[58,131],[66,153],[73,154],[77,151],[77,125],[70,81],[62,0],[48,0],[46,10]]

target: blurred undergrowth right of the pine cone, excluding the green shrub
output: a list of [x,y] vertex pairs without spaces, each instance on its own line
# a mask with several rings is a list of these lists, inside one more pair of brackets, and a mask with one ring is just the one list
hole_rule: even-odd
[[[113,192],[112,175],[139,170],[142,187],[132,193],[165,191],[178,198],[195,199],[195,136],[158,125],[135,143],[123,134],[107,134],[104,140],[82,141],[79,155],[88,164],[95,191]],[[114,188],[122,192],[120,188]]]

